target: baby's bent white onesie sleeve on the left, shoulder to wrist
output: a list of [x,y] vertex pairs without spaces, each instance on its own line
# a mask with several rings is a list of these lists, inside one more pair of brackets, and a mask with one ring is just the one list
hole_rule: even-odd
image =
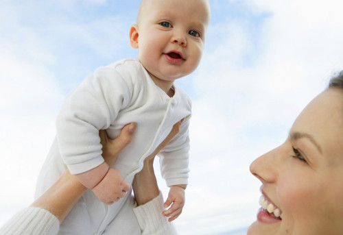
[[56,121],[64,163],[73,174],[104,162],[99,129],[107,129],[129,100],[130,84],[111,67],[101,67],[84,79],[64,101]]

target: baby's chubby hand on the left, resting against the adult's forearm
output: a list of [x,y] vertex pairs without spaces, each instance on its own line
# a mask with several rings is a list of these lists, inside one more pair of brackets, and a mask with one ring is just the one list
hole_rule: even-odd
[[102,181],[92,190],[100,201],[110,205],[125,197],[126,192],[130,190],[130,185],[124,180],[119,170],[110,168]]

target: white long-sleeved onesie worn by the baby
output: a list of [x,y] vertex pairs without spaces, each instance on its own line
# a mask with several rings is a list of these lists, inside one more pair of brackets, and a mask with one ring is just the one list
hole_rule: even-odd
[[[154,84],[138,60],[120,60],[96,69],[62,105],[57,135],[38,177],[36,197],[67,167],[71,173],[78,174],[104,162],[99,129],[106,129],[108,136],[115,138],[124,125],[136,122],[132,142],[121,151],[113,166],[132,184],[134,175],[143,167],[143,160],[167,137],[173,125],[185,117],[180,132],[158,156],[167,186],[187,184],[191,101],[178,86],[174,85],[174,90],[174,96],[169,97]],[[119,211],[129,210],[122,213],[126,214],[124,217],[131,213],[129,196],[130,193],[108,206],[88,190],[62,223],[61,230],[70,231],[69,234],[104,233],[113,227],[111,223],[120,219]],[[124,203],[128,205],[125,209]],[[136,221],[135,217],[132,220]],[[132,223],[126,218],[121,225],[130,227]]]

